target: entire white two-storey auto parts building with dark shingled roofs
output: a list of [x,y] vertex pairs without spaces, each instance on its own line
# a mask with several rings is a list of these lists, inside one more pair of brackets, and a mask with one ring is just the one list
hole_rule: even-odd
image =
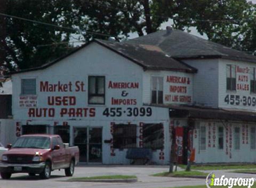
[[80,162],[256,162],[256,57],[180,30],[94,40],[12,81],[16,136],[59,134]]

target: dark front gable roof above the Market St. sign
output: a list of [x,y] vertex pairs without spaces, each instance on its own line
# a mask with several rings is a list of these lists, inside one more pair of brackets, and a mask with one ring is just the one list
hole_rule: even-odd
[[112,50],[115,53],[133,61],[134,63],[143,67],[143,69],[153,69],[153,70],[173,70],[180,72],[195,73],[197,69],[185,64],[184,62],[175,60],[168,55],[166,55],[161,49],[152,45],[140,45],[140,44],[126,44],[114,41],[105,41],[95,39],[87,44],[80,46],[71,53],[51,61],[39,67],[23,69],[10,74],[24,73],[34,70],[46,69],[47,67],[56,64],[57,62],[63,60],[64,58],[70,56],[73,53],[76,53],[80,49],[83,49],[87,45],[96,42],[97,44],[104,46],[107,49]]

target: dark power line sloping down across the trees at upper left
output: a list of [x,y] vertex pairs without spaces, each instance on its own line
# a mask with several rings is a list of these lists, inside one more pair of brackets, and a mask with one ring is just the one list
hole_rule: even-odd
[[11,17],[11,18],[19,19],[19,20],[25,20],[25,21],[36,23],[36,24],[48,25],[48,26],[56,27],[56,28],[60,28],[60,29],[68,29],[68,30],[72,30],[72,31],[78,31],[81,34],[82,34],[82,32],[86,32],[86,33],[95,34],[95,35],[101,35],[101,36],[105,36],[105,37],[113,37],[113,36],[108,35],[108,34],[97,33],[97,32],[92,32],[92,31],[82,31],[80,29],[74,29],[74,28],[69,28],[69,27],[65,27],[65,26],[49,24],[49,23],[45,23],[45,22],[42,22],[42,21],[30,20],[30,19],[27,19],[27,18],[22,18],[22,17],[18,17],[18,16],[12,16],[12,15],[8,15],[8,14],[4,14],[4,13],[0,13],[0,16],[6,16],[6,17]]

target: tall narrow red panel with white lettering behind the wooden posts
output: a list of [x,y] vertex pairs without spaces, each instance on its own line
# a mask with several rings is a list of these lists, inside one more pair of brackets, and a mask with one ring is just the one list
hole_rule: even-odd
[[183,159],[183,127],[176,127],[175,128],[175,135],[176,135],[176,156],[177,156],[177,162],[182,163]]

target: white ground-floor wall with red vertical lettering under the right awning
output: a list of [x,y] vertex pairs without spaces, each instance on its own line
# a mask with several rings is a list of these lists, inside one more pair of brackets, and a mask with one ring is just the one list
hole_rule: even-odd
[[[209,128],[209,123],[211,128]],[[206,126],[206,150],[200,150],[200,126]],[[215,147],[213,147],[213,126],[216,127]],[[224,127],[224,145],[223,149],[218,149],[218,127]],[[243,130],[244,126],[244,130]],[[248,128],[246,128],[248,126]],[[193,147],[196,149],[196,163],[256,163],[256,150],[252,150],[250,128],[255,124],[248,123],[224,123],[220,121],[200,121],[197,122],[196,134],[194,131]],[[235,127],[240,127],[240,149],[235,150]],[[228,134],[226,134],[226,130]],[[210,131],[210,139],[209,139]],[[230,136],[231,135],[231,136]],[[246,136],[248,135],[248,136]],[[226,137],[227,136],[227,137]],[[244,137],[244,138],[243,138]],[[226,141],[228,140],[228,142]],[[230,139],[232,143],[230,146]],[[208,146],[209,140],[211,147]],[[244,141],[244,143],[243,143]],[[247,143],[248,142],[248,143]]]

